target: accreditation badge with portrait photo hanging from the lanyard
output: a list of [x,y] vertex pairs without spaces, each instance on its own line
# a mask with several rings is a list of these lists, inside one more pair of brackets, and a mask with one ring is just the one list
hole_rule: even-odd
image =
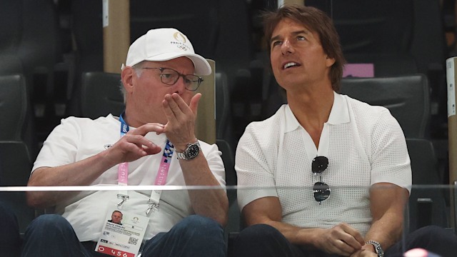
[[149,218],[120,210],[116,204],[110,206],[95,251],[110,256],[138,256]]

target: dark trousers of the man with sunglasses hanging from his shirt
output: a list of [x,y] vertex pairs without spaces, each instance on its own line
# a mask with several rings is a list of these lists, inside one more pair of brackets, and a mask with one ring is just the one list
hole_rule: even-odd
[[[244,228],[234,240],[233,256],[236,257],[333,257],[323,251],[306,251],[290,243],[276,228],[258,224]],[[424,248],[442,257],[455,257],[457,236],[438,226],[426,226],[413,231],[406,240],[388,248],[384,256],[403,256],[403,248]]]

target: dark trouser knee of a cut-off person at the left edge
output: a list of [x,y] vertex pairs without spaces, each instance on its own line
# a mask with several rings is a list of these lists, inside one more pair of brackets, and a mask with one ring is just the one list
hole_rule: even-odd
[[16,215],[5,203],[0,202],[0,256],[19,256],[21,238]]

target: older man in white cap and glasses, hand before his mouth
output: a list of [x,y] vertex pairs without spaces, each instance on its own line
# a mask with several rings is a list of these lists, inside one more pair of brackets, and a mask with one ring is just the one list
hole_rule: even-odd
[[206,59],[195,54],[180,31],[148,31],[131,44],[122,66],[124,113],[62,120],[44,142],[29,186],[211,190],[30,192],[31,206],[55,206],[60,215],[39,216],[31,223],[23,256],[100,254],[94,252],[96,241],[113,208],[122,209],[123,223],[127,212],[135,215],[132,222],[146,219],[142,256],[224,256],[224,164],[217,146],[194,133],[201,98],[194,91],[202,81],[196,74],[210,73]]

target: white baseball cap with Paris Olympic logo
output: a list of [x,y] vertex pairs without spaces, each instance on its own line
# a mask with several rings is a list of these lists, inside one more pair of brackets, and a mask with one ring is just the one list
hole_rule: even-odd
[[186,35],[177,29],[151,29],[140,36],[129,47],[125,66],[134,66],[141,61],[169,61],[186,56],[194,63],[195,73],[211,74],[211,66],[202,56],[195,54],[194,47]]

